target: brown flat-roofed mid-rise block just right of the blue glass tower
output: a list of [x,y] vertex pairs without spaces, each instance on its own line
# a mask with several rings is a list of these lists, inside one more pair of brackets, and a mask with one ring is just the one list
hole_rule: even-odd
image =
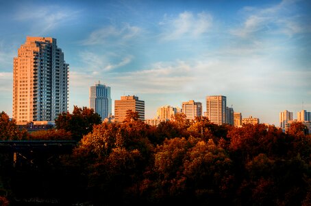
[[114,122],[123,122],[128,110],[138,112],[140,120],[145,120],[145,101],[138,100],[135,95],[121,96],[121,100],[114,100]]

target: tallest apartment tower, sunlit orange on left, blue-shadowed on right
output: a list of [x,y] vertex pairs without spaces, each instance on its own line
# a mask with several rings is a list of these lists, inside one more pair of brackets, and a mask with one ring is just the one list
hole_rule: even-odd
[[53,122],[68,111],[69,65],[56,39],[27,36],[13,63],[13,118],[17,124]]

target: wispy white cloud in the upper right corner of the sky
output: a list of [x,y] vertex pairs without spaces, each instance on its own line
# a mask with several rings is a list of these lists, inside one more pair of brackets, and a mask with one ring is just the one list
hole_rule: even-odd
[[245,21],[230,32],[241,38],[259,38],[266,34],[293,36],[311,32],[308,21],[297,14],[296,4],[297,1],[281,1],[268,8],[245,7],[242,10],[242,14],[246,15]]

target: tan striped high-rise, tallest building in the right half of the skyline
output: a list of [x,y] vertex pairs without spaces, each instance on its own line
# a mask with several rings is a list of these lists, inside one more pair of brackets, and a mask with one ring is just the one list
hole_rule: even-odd
[[206,97],[206,117],[210,122],[222,125],[226,123],[227,98],[223,95]]

